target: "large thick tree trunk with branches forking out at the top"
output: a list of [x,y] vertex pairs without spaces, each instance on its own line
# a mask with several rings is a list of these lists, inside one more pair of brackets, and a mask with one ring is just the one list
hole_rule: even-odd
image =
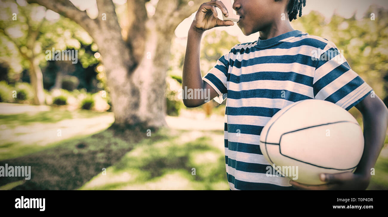
[[[171,40],[178,24],[191,15],[201,0],[159,0],[149,19],[148,0],[127,0],[129,27],[121,36],[112,0],[97,0],[99,17],[90,19],[71,2],[27,0],[73,19],[99,46],[116,125],[166,125],[165,78]],[[102,20],[100,15],[106,15]]]

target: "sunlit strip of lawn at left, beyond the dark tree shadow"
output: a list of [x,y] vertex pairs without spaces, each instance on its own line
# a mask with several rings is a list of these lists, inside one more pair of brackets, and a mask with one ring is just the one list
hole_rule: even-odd
[[34,106],[28,113],[1,114],[2,105],[0,103],[0,160],[32,154],[64,140],[100,132],[114,121],[113,114],[108,112],[60,108],[34,111]]

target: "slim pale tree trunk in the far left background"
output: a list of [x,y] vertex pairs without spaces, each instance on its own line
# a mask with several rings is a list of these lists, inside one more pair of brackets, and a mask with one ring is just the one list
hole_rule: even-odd
[[45,103],[45,94],[43,92],[43,74],[39,67],[38,60],[29,59],[29,79],[34,92],[34,104],[42,105]]

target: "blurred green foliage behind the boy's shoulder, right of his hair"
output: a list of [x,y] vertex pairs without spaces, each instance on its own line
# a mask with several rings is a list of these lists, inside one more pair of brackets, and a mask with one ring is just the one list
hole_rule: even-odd
[[[371,19],[371,14],[375,19]],[[388,92],[388,11],[371,6],[364,18],[345,19],[333,15],[330,22],[319,12],[312,11],[291,22],[294,29],[320,36],[343,51],[353,71],[367,82],[374,92],[385,99]]]

